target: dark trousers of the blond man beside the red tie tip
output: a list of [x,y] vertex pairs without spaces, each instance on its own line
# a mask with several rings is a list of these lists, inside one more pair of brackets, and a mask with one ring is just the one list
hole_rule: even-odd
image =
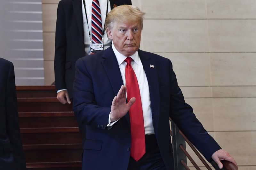
[[130,156],[128,170],[166,170],[155,135],[145,135],[146,153],[137,162]]

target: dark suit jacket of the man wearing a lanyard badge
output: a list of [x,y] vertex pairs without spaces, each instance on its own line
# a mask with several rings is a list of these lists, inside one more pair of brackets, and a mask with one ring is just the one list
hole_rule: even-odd
[[[109,0],[114,4],[132,4],[131,0]],[[61,0],[57,8],[55,33],[54,74],[56,91],[68,89],[69,98],[73,95],[75,64],[84,53],[84,25],[81,0]]]

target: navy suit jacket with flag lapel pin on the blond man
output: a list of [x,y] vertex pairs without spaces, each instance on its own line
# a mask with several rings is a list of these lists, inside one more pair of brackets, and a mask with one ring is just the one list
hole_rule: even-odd
[[[148,79],[153,126],[166,168],[173,169],[169,117],[210,161],[220,146],[184,101],[171,61],[142,50],[138,53]],[[73,107],[78,121],[86,126],[83,167],[127,169],[131,147],[129,113],[107,129],[112,100],[121,85],[123,80],[111,46],[76,62]]]

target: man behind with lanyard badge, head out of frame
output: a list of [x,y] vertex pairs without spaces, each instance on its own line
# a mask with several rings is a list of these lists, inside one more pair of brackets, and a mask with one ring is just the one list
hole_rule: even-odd
[[[106,17],[107,0],[99,0],[101,17]],[[85,0],[86,9],[91,9],[92,0]],[[108,11],[115,6],[132,4],[131,0],[109,0]],[[91,10],[86,10],[88,21],[85,17],[83,0],[61,0],[57,9],[54,74],[57,99],[62,104],[71,103],[73,95],[73,81],[75,77],[76,60],[89,55],[90,37],[88,26],[91,28]],[[89,17],[90,16],[90,17]],[[87,25],[89,23],[89,25]],[[104,27],[104,23],[102,22]],[[109,46],[111,41],[104,36],[104,46]]]

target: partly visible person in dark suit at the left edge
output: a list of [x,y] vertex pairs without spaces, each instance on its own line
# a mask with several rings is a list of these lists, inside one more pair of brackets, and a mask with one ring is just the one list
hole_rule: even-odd
[[0,169],[23,170],[22,149],[13,64],[0,58]]

